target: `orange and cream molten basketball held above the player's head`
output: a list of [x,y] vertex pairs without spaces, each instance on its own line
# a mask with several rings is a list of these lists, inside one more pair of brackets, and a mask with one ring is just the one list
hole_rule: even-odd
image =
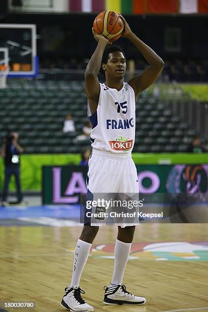
[[114,11],[103,11],[95,17],[93,29],[98,35],[115,41],[122,35],[123,21]]

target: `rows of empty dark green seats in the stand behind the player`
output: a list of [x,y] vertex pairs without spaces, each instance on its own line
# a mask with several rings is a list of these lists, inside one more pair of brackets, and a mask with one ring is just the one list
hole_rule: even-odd
[[[25,153],[76,153],[89,140],[73,143],[87,121],[87,100],[82,82],[13,82],[0,90],[1,138],[17,131]],[[75,133],[63,133],[65,115],[73,115]],[[136,106],[134,152],[186,152],[196,132],[173,116],[167,103],[143,92]]]

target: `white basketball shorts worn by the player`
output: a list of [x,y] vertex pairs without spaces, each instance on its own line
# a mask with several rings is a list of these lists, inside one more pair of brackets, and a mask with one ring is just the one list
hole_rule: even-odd
[[[93,149],[88,163],[87,188],[93,200],[96,200],[96,196],[99,194],[114,193],[119,196],[120,194],[128,194],[128,199],[132,195],[135,199],[136,195],[139,201],[137,169],[131,153],[115,154]],[[122,223],[118,223],[118,219],[114,223],[121,227],[133,226],[139,224],[139,218],[136,220],[134,223],[129,223],[129,220],[125,223],[127,219],[124,218]],[[87,223],[91,223],[92,226],[102,226],[104,224],[104,222],[99,223],[99,220],[85,215],[84,224]]]

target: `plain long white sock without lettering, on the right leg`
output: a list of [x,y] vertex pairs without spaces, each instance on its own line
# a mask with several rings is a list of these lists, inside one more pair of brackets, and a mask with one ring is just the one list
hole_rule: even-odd
[[114,271],[111,286],[122,284],[124,270],[128,261],[132,243],[116,240],[114,249]]

